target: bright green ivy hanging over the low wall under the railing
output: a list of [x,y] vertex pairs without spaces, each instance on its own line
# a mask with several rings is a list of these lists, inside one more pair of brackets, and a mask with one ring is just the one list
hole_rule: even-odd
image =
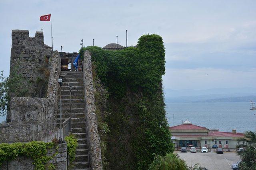
[[[51,160],[58,152],[52,156],[47,156],[49,149],[54,148],[54,143],[44,143],[42,141],[33,141],[29,143],[2,143],[0,144],[0,166],[6,160],[13,160],[19,155],[31,157],[37,170],[44,170],[47,162]],[[57,150],[57,149],[56,149]]]

